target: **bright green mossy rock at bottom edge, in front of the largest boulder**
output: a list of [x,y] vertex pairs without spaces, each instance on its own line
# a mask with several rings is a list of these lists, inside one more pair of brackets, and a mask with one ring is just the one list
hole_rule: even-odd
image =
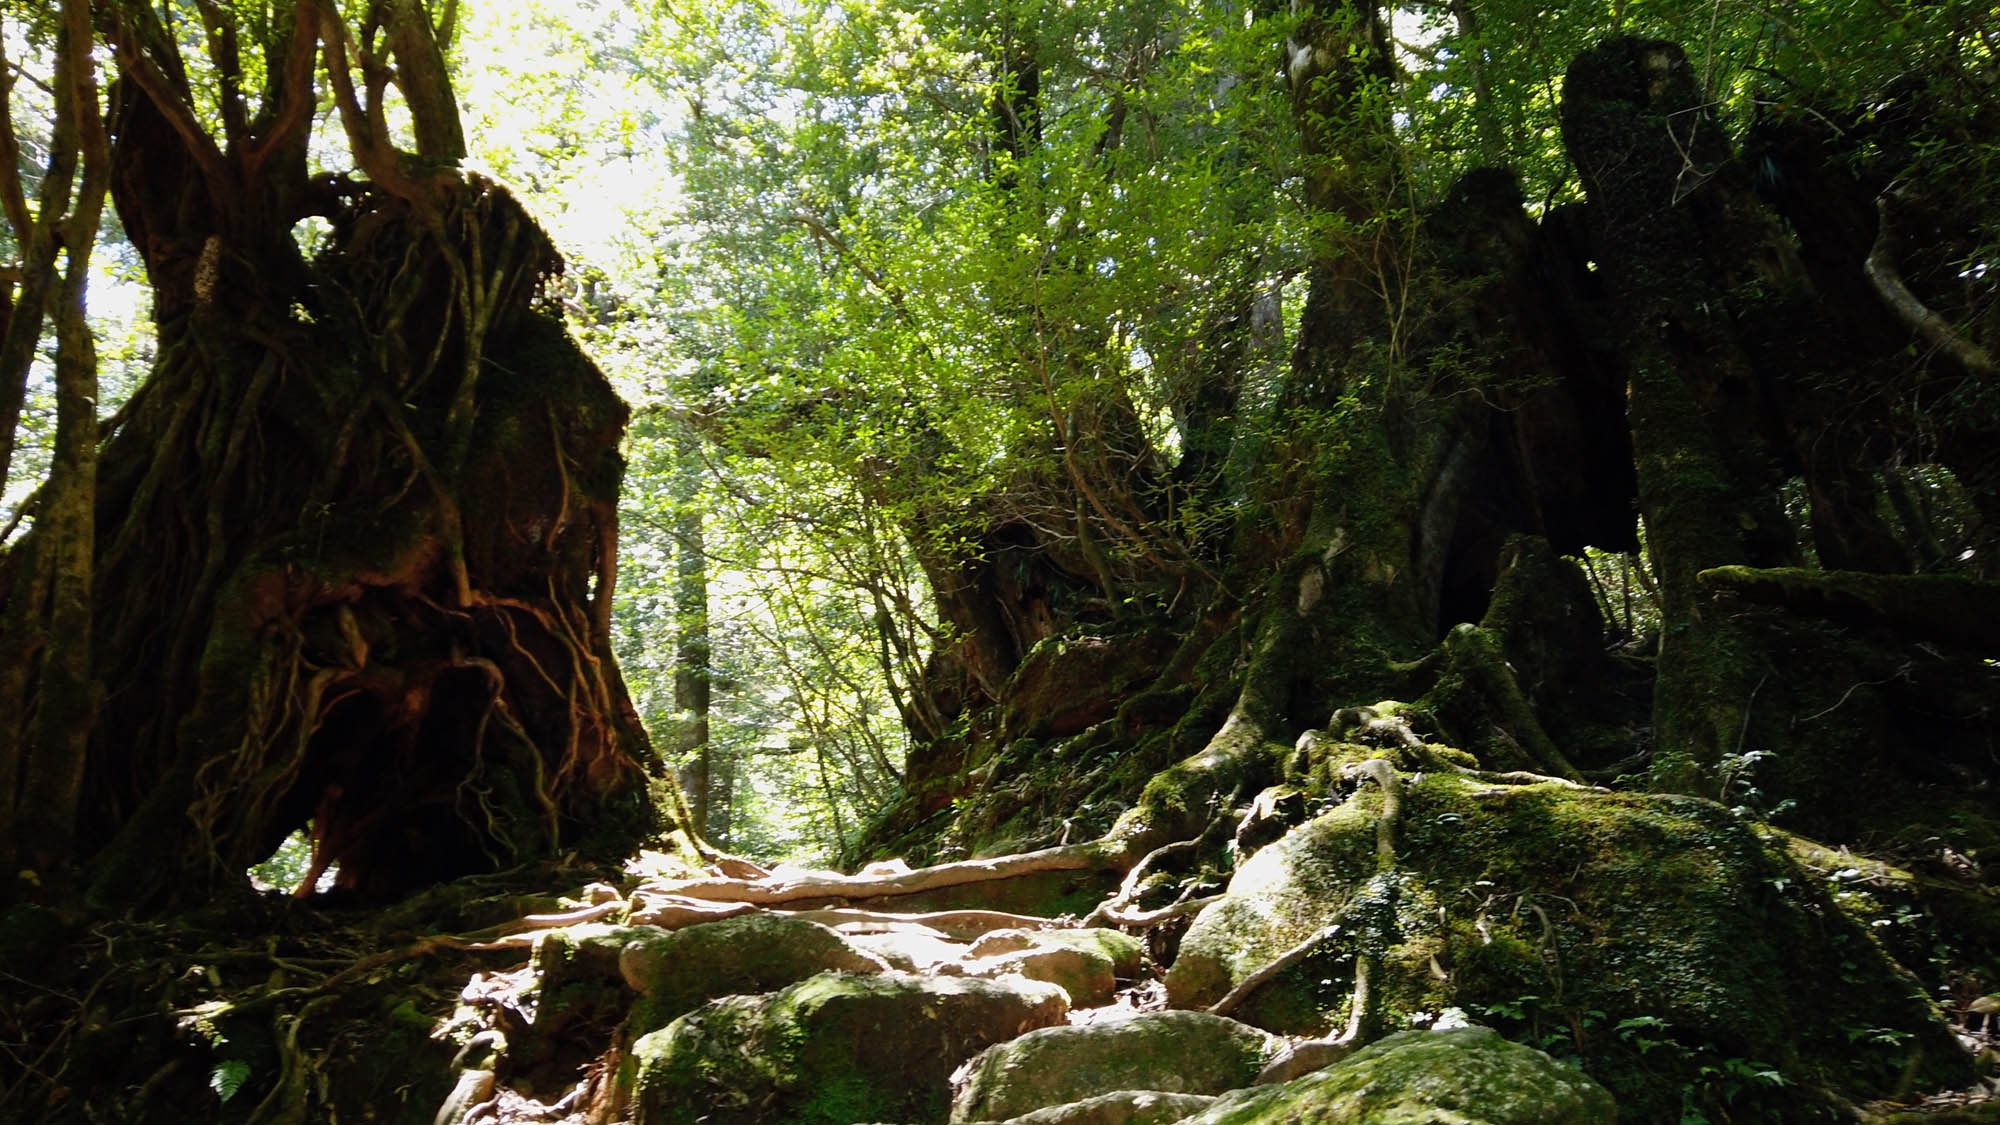
[[1184,1125],[1604,1125],[1590,1075],[1490,1027],[1402,1031],[1284,1085],[1240,1089]]

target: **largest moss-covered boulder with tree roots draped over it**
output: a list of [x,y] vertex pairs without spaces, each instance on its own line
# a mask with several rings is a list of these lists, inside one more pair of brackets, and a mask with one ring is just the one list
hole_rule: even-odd
[[1632,1121],[1972,1079],[1922,987],[1826,881],[1720,805],[1410,777],[1398,867],[1376,879],[1380,809],[1370,785],[1244,863],[1182,941],[1168,1003],[1206,1007],[1342,911],[1374,909],[1390,911],[1380,927],[1348,925],[1232,1015],[1340,1027],[1354,935],[1380,933],[1382,1025],[1462,1007],[1580,1059]]

